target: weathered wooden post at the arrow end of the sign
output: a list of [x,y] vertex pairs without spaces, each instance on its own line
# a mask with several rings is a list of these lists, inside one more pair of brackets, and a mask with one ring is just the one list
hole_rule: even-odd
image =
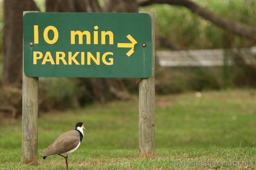
[[139,156],[155,156],[155,20],[154,12],[147,13],[152,19],[152,73],[139,83]]

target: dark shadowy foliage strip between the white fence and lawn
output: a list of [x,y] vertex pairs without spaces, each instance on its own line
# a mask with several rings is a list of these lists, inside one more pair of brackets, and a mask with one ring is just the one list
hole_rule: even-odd
[[[255,61],[252,61],[255,62]],[[186,91],[255,87],[254,65],[235,63],[224,67],[159,67],[156,71],[156,94]]]

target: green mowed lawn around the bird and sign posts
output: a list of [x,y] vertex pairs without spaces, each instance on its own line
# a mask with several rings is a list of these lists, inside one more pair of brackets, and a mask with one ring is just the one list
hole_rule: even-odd
[[256,90],[156,97],[156,156],[138,158],[138,99],[40,113],[38,166],[21,165],[21,118],[0,114],[0,169],[65,169],[65,159],[40,154],[83,122],[69,169],[256,169]]

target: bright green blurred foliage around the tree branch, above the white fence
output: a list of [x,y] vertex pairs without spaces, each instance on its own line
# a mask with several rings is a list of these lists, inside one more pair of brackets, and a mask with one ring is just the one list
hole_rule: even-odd
[[[223,17],[252,27],[256,25],[255,0],[195,0],[195,2]],[[223,48],[223,30],[185,7],[161,4],[142,7],[140,10],[154,11],[156,33],[176,43],[181,49]],[[234,47],[251,45],[254,43],[236,37]]]

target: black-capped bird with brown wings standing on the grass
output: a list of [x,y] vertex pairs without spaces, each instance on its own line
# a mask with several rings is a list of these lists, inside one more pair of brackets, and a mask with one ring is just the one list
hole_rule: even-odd
[[[46,159],[52,155],[59,155],[66,159],[66,166],[68,169],[68,156],[73,153],[81,145],[84,137],[85,129],[82,122],[78,122],[74,130],[70,130],[60,135],[42,154],[41,157]],[[67,156],[63,156],[63,155]]]

